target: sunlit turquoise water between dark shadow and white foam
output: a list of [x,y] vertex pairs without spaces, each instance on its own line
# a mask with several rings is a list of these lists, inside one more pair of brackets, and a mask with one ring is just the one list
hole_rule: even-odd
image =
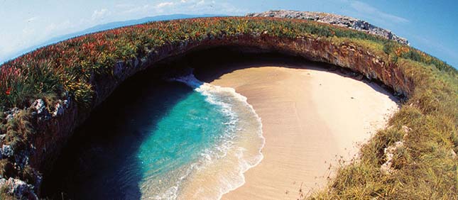
[[193,164],[212,156],[234,134],[230,131],[231,116],[205,99],[193,91],[173,106],[141,143],[137,157],[141,160],[143,181],[153,180],[148,193],[163,196],[168,189],[177,187]]

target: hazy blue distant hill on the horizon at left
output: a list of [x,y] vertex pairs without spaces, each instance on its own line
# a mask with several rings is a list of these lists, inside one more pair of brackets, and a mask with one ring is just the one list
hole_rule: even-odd
[[[88,33],[95,33],[98,31],[102,30],[108,30],[108,29],[113,29],[113,28],[119,28],[123,26],[131,26],[139,23],[147,23],[150,21],[167,21],[167,20],[173,20],[173,19],[180,19],[180,18],[199,18],[199,17],[212,17],[212,16],[222,16],[222,15],[215,15],[215,14],[203,14],[203,15],[186,15],[186,14],[173,14],[173,15],[163,15],[163,16],[150,16],[150,17],[145,17],[145,18],[139,18],[139,19],[133,19],[133,20],[128,20],[128,21],[115,21],[111,23],[104,23],[100,24],[91,28],[87,28],[75,33],[69,33],[66,35],[60,35],[54,38],[50,38],[49,40],[46,40],[43,43],[40,43],[38,45],[33,45],[30,48],[26,48],[24,50],[20,50],[18,52],[15,52],[11,54],[8,57],[4,57],[4,60],[0,60],[0,64],[3,62],[6,62],[8,60],[11,60],[15,57],[18,57],[20,55],[23,55],[26,52],[30,52],[33,50],[36,50],[37,48],[43,47],[45,45],[51,45],[54,43],[58,43],[62,40],[67,40],[70,38],[74,38],[76,36],[80,35],[86,35]],[[0,58],[1,59],[1,58]]]

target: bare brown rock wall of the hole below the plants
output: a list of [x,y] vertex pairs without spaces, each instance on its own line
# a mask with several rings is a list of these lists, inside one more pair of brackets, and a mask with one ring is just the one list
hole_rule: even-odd
[[[138,56],[138,58],[127,62],[117,62],[113,66],[113,75],[105,75],[92,79],[92,86],[95,91],[93,104],[89,109],[77,106],[72,99],[60,101],[56,105],[45,105],[45,102],[38,99],[28,108],[31,111],[30,121],[36,133],[29,138],[31,148],[26,152],[14,152],[16,160],[23,160],[18,165],[30,165],[41,174],[52,170],[55,160],[58,158],[60,150],[66,144],[68,138],[84,120],[89,116],[92,109],[101,104],[125,79],[133,76],[148,67],[155,67],[155,63],[165,58],[173,58],[185,52],[203,50],[222,46],[230,47],[249,47],[259,50],[269,50],[306,57],[309,60],[326,62],[340,67],[347,67],[355,72],[364,74],[369,79],[378,79],[389,87],[393,88],[398,94],[408,96],[413,91],[413,82],[403,74],[400,67],[389,65],[383,62],[371,52],[368,52],[356,45],[341,44],[336,45],[320,38],[276,38],[266,33],[249,35],[237,35],[228,37],[207,37],[204,40],[184,43],[166,44],[148,55]],[[224,56],[224,55],[222,55]],[[55,108],[48,111],[46,106]],[[36,173],[36,182],[28,182],[29,190],[40,194],[40,173]],[[18,181],[16,181],[18,182]],[[4,183],[10,189],[17,188],[14,181],[0,179],[0,184]],[[21,188],[23,187],[23,182]],[[13,190],[10,190],[13,191]],[[16,190],[17,191],[17,190]],[[22,191],[28,191],[22,189]],[[14,193],[16,194],[16,193]],[[21,196],[21,194],[16,194]],[[24,193],[23,195],[31,195]]]

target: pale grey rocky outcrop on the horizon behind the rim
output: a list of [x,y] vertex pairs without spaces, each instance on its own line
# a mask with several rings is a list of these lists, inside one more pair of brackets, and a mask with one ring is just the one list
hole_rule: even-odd
[[301,18],[321,23],[329,23],[335,26],[342,26],[354,30],[361,30],[366,33],[378,35],[388,40],[395,40],[398,43],[408,45],[409,42],[405,38],[400,38],[391,30],[386,30],[372,25],[371,23],[349,16],[340,16],[330,13],[307,12],[307,11],[266,11],[263,13],[249,13],[246,16],[250,17],[276,17],[276,18]]

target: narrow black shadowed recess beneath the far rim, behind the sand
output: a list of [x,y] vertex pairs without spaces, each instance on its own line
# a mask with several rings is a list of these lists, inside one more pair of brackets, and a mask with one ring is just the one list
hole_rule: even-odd
[[248,53],[239,48],[214,48],[191,52],[182,58],[182,65],[194,68],[194,74],[202,82],[212,82],[224,74],[252,67],[278,66],[293,69],[308,69],[330,72],[341,77],[356,79],[378,91],[393,101],[398,102],[403,96],[393,96],[394,91],[376,79],[367,79],[363,75],[349,69],[337,67],[323,62],[312,62],[302,57],[284,55],[278,52],[258,53],[256,49],[249,49]]

